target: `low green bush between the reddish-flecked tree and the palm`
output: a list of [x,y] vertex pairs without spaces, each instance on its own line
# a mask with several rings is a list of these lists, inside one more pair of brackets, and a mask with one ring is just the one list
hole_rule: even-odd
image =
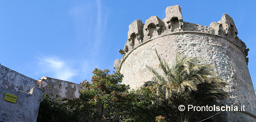
[[123,100],[118,103],[120,122],[153,122],[159,114],[157,106],[152,105],[155,97],[153,87],[140,87],[123,94]]

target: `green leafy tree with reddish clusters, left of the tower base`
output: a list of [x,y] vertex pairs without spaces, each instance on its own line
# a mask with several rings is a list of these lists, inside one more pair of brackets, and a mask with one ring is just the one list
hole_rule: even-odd
[[[129,86],[120,84],[123,78],[119,72],[109,74],[109,70],[99,70],[95,68],[91,78],[91,83],[84,80],[81,84],[83,89],[80,91],[80,98],[95,103],[99,107],[101,120],[113,122],[118,118],[118,104],[122,94],[127,93]],[[97,108],[95,108],[97,109]],[[104,115],[104,110],[107,114]]]

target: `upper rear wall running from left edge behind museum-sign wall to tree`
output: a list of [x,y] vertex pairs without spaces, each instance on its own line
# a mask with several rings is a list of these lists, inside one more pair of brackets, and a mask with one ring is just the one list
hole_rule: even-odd
[[47,78],[42,81],[42,84],[39,83],[38,80],[0,65],[0,87],[8,90],[28,93],[31,88],[39,87],[47,94],[61,95],[60,99],[73,99],[79,97],[79,90],[82,88],[80,84],[54,78]]

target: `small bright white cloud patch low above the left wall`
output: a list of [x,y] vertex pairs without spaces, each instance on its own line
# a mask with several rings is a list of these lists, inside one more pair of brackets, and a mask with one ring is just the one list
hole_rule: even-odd
[[73,76],[78,75],[78,70],[56,57],[40,58],[38,64],[40,71],[49,74],[53,78],[70,80]]

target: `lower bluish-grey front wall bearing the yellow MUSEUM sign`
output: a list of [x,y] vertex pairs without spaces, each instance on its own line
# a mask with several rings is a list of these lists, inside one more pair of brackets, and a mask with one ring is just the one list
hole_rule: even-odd
[[[43,90],[33,87],[29,93],[0,87],[0,121],[36,122]],[[5,101],[5,93],[17,96],[16,103]]]

